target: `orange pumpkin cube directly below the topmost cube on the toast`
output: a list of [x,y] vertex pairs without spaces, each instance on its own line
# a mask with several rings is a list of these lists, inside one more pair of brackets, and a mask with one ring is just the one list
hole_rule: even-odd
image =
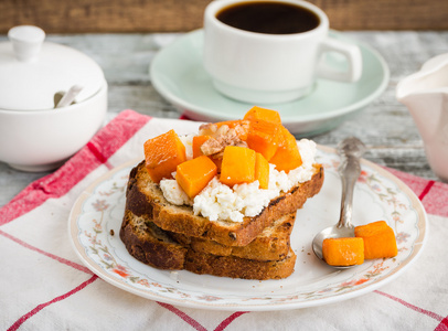
[[278,149],[278,137],[281,126],[266,120],[250,121],[247,146],[270,160]]

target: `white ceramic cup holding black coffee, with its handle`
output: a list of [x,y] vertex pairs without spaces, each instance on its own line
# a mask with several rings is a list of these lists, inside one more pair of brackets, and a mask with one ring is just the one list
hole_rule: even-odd
[[[216,14],[237,3],[282,2],[308,9],[319,19],[314,29],[290,34],[250,32],[231,26]],[[318,7],[300,0],[215,0],[204,13],[204,67],[215,88],[231,98],[253,103],[286,103],[308,95],[316,78],[345,83],[362,74],[358,46],[329,36],[329,20]],[[326,52],[346,58],[341,72],[323,60]]]

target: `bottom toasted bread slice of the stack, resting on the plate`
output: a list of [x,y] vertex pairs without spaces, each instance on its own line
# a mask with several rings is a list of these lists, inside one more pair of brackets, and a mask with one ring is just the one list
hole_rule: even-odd
[[159,269],[185,269],[201,275],[265,280],[288,277],[296,264],[296,255],[290,247],[279,260],[254,260],[196,252],[177,243],[168,232],[130,211],[125,212],[120,238],[130,255]]

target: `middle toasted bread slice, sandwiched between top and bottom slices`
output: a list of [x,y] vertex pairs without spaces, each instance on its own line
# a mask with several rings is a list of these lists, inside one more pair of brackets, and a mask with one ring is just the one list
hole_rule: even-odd
[[236,256],[255,260],[279,260],[289,253],[290,235],[296,221],[296,213],[285,215],[266,227],[246,246],[225,246],[214,241],[186,236],[169,232],[170,236],[184,247],[195,252],[217,256]]

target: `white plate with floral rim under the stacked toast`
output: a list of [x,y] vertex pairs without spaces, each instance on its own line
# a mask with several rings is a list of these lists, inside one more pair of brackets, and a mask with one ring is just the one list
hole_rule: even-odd
[[417,196],[397,178],[363,160],[353,223],[387,221],[396,233],[398,255],[345,270],[335,270],[314,257],[311,241],[320,229],[335,224],[341,186],[338,156],[332,149],[319,147],[318,161],[324,164],[326,180],[321,192],[298,211],[291,235],[297,261],[290,277],[259,281],[159,270],[130,256],[119,238],[126,183],[138,161],[110,171],[81,194],[70,216],[70,237],[93,273],[143,298],[232,311],[320,306],[361,296],[395,279],[415,261],[425,243],[427,216]]

